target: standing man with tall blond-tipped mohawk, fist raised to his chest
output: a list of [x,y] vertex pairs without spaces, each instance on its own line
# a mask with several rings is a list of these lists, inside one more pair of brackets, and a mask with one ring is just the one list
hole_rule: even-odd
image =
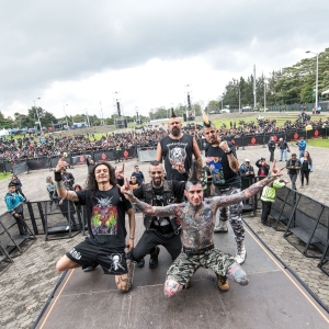
[[[231,195],[241,191],[241,179],[239,175],[239,161],[235,146],[218,136],[215,125],[203,112],[203,135],[208,143],[205,156],[211,164],[213,173],[213,185],[218,196]],[[228,232],[227,220],[229,220],[237,242],[236,261],[242,264],[247,257],[245,247],[245,229],[241,218],[242,202],[234,205],[225,205],[220,208],[219,224],[215,226],[215,232]]]

